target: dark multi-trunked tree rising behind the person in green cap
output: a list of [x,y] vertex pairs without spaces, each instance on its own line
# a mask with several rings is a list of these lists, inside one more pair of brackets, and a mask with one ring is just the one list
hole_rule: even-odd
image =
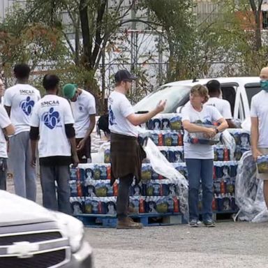
[[[108,6],[108,3],[112,6]],[[66,39],[71,52],[70,62],[66,64],[66,82],[77,82],[96,96],[98,106],[104,104],[105,92],[96,81],[96,71],[100,67],[105,47],[119,27],[126,23],[124,18],[135,4],[130,1],[122,8],[124,0],[29,0],[27,2],[27,21],[41,22],[54,27]],[[68,14],[69,25],[63,21],[62,14]],[[73,40],[67,31],[73,31]],[[104,71],[104,70],[102,70]],[[101,100],[101,101],[100,101]]]

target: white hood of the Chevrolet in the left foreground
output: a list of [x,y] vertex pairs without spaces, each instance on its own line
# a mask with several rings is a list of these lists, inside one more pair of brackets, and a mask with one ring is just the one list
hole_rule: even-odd
[[0,190],[0,226],[55,221],[53,214],[39,204]]

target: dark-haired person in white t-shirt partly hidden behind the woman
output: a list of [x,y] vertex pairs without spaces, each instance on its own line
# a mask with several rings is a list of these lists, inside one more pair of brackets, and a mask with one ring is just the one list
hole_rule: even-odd
[[216,107],[218,112],[227,121],[229,128],[236,128],[237,126],[232,121],[232,111],[229,101],[223,100],[221,97],[221,84],[218,80],[210,80],[207,82],[207,89],[209,90],[209,101],[204,105],[211,105]]

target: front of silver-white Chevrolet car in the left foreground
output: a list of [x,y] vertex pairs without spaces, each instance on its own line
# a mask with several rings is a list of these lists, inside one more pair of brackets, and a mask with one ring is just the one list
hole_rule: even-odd
[[81,221],[0,191],[0,268],[91,268]]

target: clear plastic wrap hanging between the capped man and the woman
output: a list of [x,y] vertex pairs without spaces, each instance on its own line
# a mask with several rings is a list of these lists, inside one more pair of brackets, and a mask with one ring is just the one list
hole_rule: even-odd
[[188,181],[170,162],[168,162],[151,139],[147,140],[144,151],[146,151],[147,158],[149,158],[151,168],[153,168],[156,173],[169,179],[170,183],[177,185],[180,211],[188,218]]

